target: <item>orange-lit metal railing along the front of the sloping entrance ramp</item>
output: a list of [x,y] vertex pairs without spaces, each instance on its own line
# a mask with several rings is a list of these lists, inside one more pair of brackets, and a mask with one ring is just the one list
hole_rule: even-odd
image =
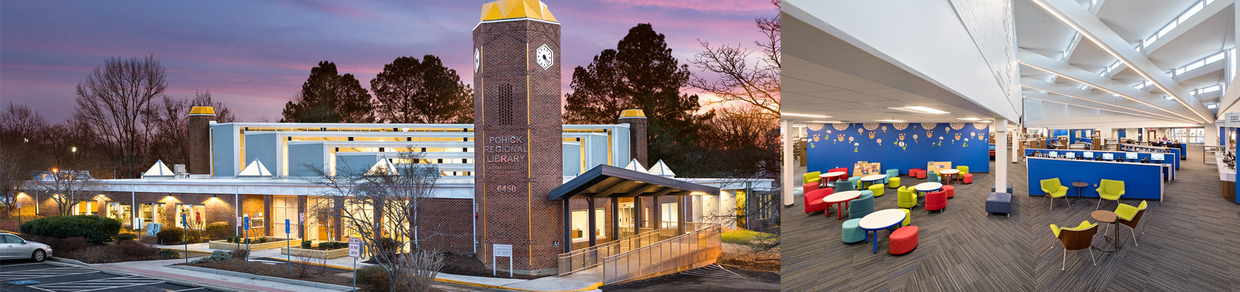
[[[718,259],[723,254],[720,224],[603,259],[603,282],[616,283],[657,276]],[[621,268],[622,267],[622,268]]]

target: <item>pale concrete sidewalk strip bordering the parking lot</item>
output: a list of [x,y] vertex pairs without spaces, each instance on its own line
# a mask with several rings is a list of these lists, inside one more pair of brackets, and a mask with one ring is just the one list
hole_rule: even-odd
[[135,276],[144,276],[144,277],[161,278],[161,280],[176,280],[182,282],[198,283],[200,286],[246,291],[246,292],[252,292],[252,291],[335,292],[335,290],[280,283],[280,282],[263,281],[247,277],[233,277],[233,276],[224,276],[210,272],[197,272],[197,271],[188,271],[167,266],[181,262],[185,262],[185,260],[177,259],[177,260],[160,260],[160,261],[130,261],[130,262],[92,265],[92,267],[99,270],[124,272]]

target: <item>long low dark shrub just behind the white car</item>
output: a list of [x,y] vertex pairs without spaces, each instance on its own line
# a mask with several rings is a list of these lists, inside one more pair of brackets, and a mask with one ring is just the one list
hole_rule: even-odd
[[84,238],[92,244],[103,244],[120,233],[120,221],[98,215],[48,217],[22,223],[20,229],[25,234]]

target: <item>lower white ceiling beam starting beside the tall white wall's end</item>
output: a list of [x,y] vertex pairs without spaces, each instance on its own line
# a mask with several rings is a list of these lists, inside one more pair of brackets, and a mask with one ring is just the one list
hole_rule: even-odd
[[1023,48],[1017,52],[1017,56],[1021,58],[1021,64],[1025,67],[1055,74],[1061,78],[1078,82],[1085,85],[1090,85],[1099,90],[1115,94],[1121,98],[1132,100],[1135,103],[1143,104],[1153,109],[1158,109],[1161,111],[1200,124],[1200,121],[1195,119],[1197,116],[1193,115],[1193,113],[1185,109],[1183,105],[1167,100],[1158,95],[1154,95],[1152,93],[1132,88],[1131,85],[1122,84],[1120,82],[1112,80],[1111,78],[1100,77],[1097,74],[1090,73],[1089,71],[1076,68],[1066,63],[1061,63],[1056,59],[1052,59]]

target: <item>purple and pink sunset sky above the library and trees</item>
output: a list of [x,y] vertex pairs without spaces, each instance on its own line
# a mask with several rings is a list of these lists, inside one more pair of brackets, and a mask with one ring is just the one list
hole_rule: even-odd
[[[687,63],[697,38],[756,49],[766,0],[543,0],[563,30],[562,74],[650,22]],[[67,119],[74,87],[108,57],[154,56],[167,95],[210,90],[242,121],[277,121],[319,61],[370,89],[396,57],[436,54],[472,82],[470,31],[485,0],[451,1],[0,1],[0,101]],[[755,56],[756,57],[756,56]],[[697,72],[696,68],[691,69]],[[696,90],[689,89],[696,93]]]

